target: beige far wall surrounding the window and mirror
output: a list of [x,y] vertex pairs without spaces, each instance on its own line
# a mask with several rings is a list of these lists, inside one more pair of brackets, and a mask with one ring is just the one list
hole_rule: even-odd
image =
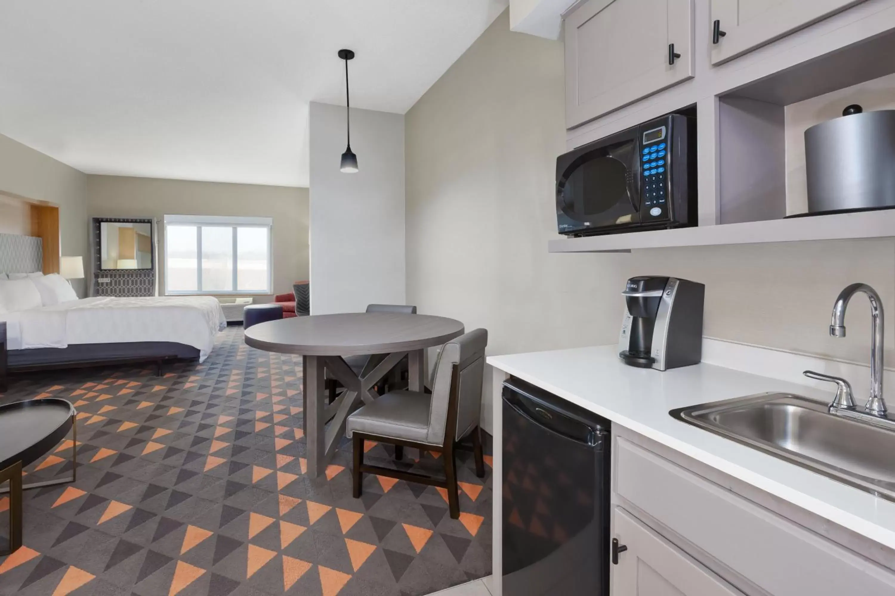
[[[274,294],[291,292],[293,281],[308,279],[308,189],[90,175],[87,203],[90,217],[156,218],[160,255],[165,215],[272,217]],[[158,289],[164,293],[164,267]]]

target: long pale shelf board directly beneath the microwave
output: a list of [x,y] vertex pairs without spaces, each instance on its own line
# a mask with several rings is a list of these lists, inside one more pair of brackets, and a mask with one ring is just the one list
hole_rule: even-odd
[[628,252],[635,248],[703,247],[720,244],[763,244],[892,236],[895,236],[895,209],[555,239],[548,242],[548,250],[551,253]]

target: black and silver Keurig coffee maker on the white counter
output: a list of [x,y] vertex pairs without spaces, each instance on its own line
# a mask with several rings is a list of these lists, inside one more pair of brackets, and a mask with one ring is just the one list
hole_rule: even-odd
[[705,286],[673,277],[632,277],[618,335],[618,357],[626,365],[664,371],[703,358]]

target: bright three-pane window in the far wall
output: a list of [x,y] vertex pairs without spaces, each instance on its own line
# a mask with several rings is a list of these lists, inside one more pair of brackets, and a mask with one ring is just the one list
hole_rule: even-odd
[[269,294],[269,217],[165,216],[166,294]]

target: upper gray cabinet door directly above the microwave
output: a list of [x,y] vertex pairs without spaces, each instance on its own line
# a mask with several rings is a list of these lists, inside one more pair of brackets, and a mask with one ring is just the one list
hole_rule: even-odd
[[692,47],[693,0],[582,4],[566,19],[567,128],[692,78]]

